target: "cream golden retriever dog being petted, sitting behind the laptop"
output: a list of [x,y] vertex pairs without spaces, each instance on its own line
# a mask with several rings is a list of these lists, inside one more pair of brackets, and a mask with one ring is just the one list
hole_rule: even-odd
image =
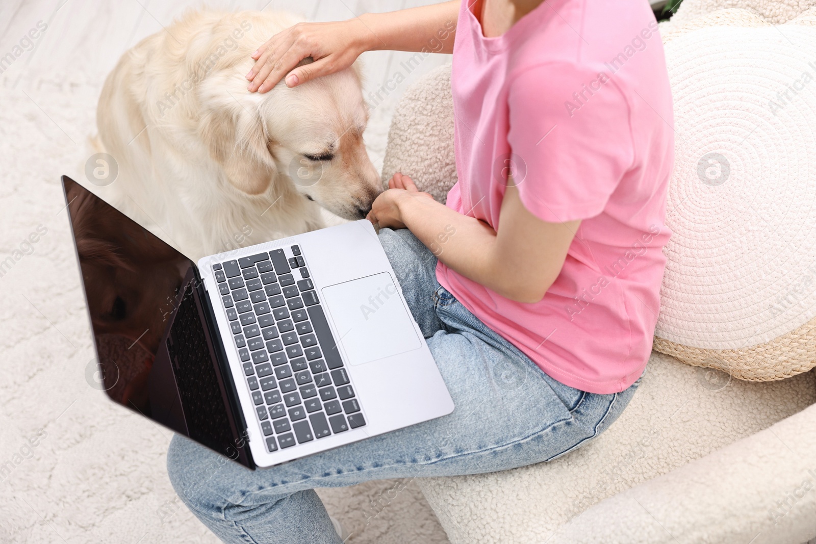
[[252,52],[297,22],[191,11],[126,51],[97,110],[100,151],[118,164],[100,196],[192,259],[322,228],[319,206],[365,218],[382,189],[359,68],[246,88]]

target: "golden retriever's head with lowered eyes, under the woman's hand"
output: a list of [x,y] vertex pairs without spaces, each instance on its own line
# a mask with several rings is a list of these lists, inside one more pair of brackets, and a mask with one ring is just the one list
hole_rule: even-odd
[[289,184],[336,215],[365,218],[382,186],[363,143],[368,110],[357,69],[259,94],[246,90],[246,59],[207,77],[198,96],[199,134],[229,182],[250,195]]

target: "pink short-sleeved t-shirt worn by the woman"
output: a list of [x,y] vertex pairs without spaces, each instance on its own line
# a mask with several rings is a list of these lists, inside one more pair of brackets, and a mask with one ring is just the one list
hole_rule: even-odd
[[645,0],[546,0],[485,38],[468,4],[453,55],[459,182],[447,206],[498,229],[509,172],[539,219],[583,221],[539,303],[442,263],[437,278],[552,378],[623,391],[651,352],[671,236],[672,93],[654,15]]

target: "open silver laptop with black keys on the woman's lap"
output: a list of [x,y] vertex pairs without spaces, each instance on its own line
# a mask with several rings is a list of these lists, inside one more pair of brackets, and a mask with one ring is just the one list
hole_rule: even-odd
[[453,411],[369,221],[193,263],[62,183],[112,400],[251,469]]

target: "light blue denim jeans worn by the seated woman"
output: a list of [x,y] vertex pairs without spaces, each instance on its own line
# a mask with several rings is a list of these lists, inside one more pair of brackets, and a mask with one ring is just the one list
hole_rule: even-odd
[[635,393],[600,395],[544,374],[437,282],[437,259],[407,229],[379,232],[406,301],[453,397],[452,414],[250,471],[184,436],[167,452],[176,493],[224,542],[340,542],[315,488],[477,474],[578,448]]

